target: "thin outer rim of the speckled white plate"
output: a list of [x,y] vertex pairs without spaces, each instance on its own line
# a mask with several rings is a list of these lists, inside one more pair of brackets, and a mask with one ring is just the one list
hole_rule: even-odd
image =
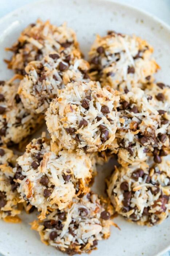
[[[22,7],[19,7],[19,8],[16,8],[15,10],[13,10],[13,11],[11,11],[11,12],[9,12],[9,13],[7,13],[7,14],[5,14],[4,16],[2,16],[1,18],[0,18],[0,25],[2,24],[2,23],[4,23],[4,21],[5,20],[8,20],[8,19],[10,19],[12,16],[15,16],[15,14],[18,14],[19,12],[21,12],[22,10],[25,10],[27,7],[33,7],[33,6],[35,6],[35,5],[38,5],[38,4],[42,4],[42,3],[44,3],[44,2],[51,2],[51,1],[53,1],[53,0],[36,0],[36,1],[34,1],[34,2],[32,2],[32,3],[27,3],[27,4],[25,4],[25,5],[23,5]],[[76,0],[76,1],[81,1],[81,0]],[[86,0],[87,1],[87,0]],[[159,23],[159,25],[161,25],[162,27],[163,27],[163,29],[166,29],[167,31],[168,31],[168,33],[170,34],[170,25],[168,25],[165,21],[163,21],[161,18],[158,18],[156,15],[154,15],[154,14],[151,14],[149,11],[145,11],[145,10],[143,10],[143,9],[139,9],[138,7],[134,7],[133,5],[131,5],[131,4],[129,4],[129,3],[120,3],[118,0],[88,0],[88,2],[87,3],[90,3],[90,2],[96,2],[96,3],[110,3],[110,4],[115,4],[115,5],[117,5],[117,6],[119,6],[119,7],[126,7],[126,8],[128,8],[128,9],[131,9],[131,10],[133,10],[133,11],[135,11],[135,12],[138,12],[138,13],[140,13],[141,15],[145,15],[147,18],[149,18],[149,19],[152,19],[154,22],[157,22],[157,23]],[[1,37],[1,36],[0,36]],[[168,252],[170,250],[170,244],[168,245],[168,246],[166,246],[163,250],[161,250],[160,252],[158,252],[157,253],[157,255],[155,255],[155,256],[161,256],[163,253],[166,253],[166,252]],[[1,255],[3,255],[3,256],[6,256],[5,254],[4,254],[4,252],[1,252],[0,251],[0,253],[1,253]]]

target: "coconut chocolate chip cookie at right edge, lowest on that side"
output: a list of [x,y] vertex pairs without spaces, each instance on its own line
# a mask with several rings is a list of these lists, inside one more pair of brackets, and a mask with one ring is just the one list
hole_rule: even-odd
[[115,210],[128,221],[159,224],[170,211],[170,161],[116,168],[107,192]]

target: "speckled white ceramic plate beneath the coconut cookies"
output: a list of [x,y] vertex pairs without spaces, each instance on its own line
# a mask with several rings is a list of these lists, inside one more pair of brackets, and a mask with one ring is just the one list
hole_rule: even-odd
[[[60,25],[64,21],[72,27],[87,56],[95,34],[104,35],[107,30],[137,34],[154,46],[154,56],[162,70],[157,78],[169,82],[170,74],[170,28],[157,18],[132,7],[100,0],[46,0],[27,5],[0,20],[0,80],[7,79],[12,72],[6,69],[3,59],[7,58],[4,48],[11,46],[20,31],[37,18],[50,19]],[[112,169],[109,163],[100,170],[94,189],[104,192],[104,176]],[[106,171],[107,170],[107,171]],[[39,235],[29,229],[28,223],[34,215],[22,216],[22,224],[0,222],[0,253],[11,256],[53,256],[63,255],[54,248],[41,244]],[[170,248],[170,218],[160,226],[152,228],[130,224],[122,218],[115,218],[121,230],[112,227],[111,237],[99,242],[98,250],[92,256],[155,256]]]

